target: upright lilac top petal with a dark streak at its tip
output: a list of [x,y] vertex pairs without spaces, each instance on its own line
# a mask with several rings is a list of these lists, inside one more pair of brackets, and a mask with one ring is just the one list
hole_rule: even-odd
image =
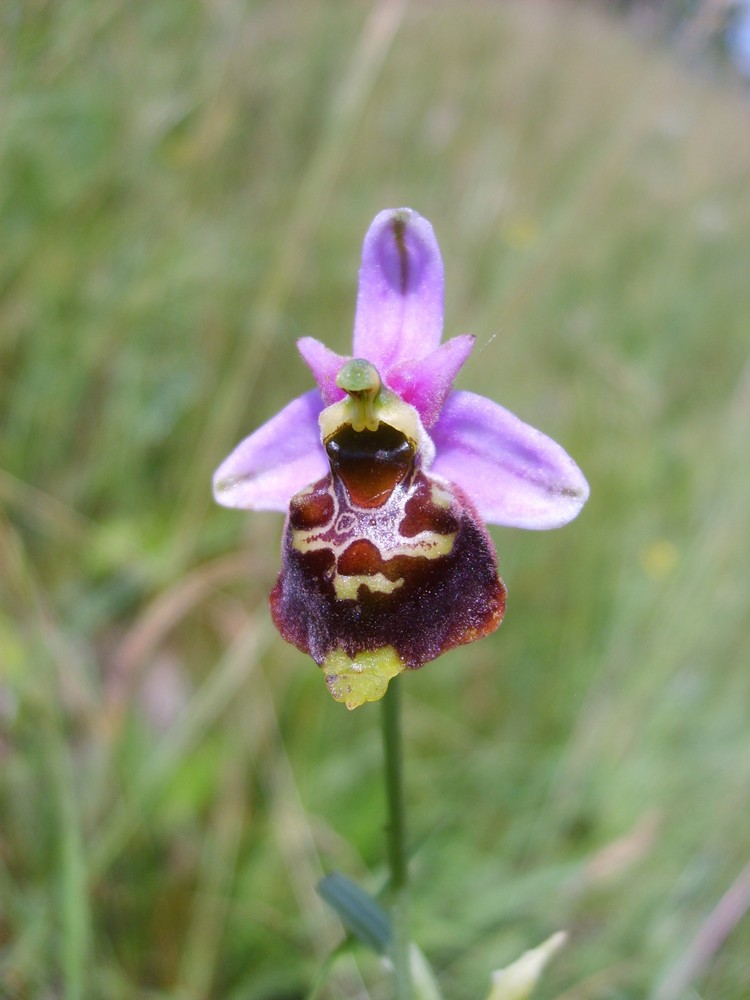
[[443,285],[430,223],[410,208],[376,215],[362,247],[354,357],[382,372],[434,351],[443,331]]

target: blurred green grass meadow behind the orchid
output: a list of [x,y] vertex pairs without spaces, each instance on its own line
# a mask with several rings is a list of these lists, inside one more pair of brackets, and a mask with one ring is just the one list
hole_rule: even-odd
[[[746,998],[741,907],[685,964],[750,858],[746,100],[593,5],[0,16],[0,992],[303,997],[316,878],[382,884],[377,710],[272,634],[281,519],[209,476],[407,204],[460,385],[592,486],[408,678],[417,936],[457,1000],[558,927],[542,1000]],[[356,958],[325,995],[387,996]]]

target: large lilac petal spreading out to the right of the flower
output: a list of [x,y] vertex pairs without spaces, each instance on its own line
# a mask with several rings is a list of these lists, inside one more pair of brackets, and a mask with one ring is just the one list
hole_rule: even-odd
[[588,483],[559,444],[484,396],[449,396],[431,436],[432,472],[460,486],[490,524],[558,528],[588,498]]

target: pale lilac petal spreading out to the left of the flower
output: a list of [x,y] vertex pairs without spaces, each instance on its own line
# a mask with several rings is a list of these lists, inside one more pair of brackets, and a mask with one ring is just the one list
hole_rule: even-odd
[[214,474],[224,507],[285,511],[292,496],[328,471],[320,443],[317,389],[293,400],[245,438]]

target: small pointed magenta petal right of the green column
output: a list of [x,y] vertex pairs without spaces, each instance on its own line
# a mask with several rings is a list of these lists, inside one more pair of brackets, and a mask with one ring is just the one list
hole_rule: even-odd
[[441,344],[418,363],[404,361],[388,372],[388,386],[419,412],[432,427],[443,408],[453,380],[471,354],[475,337],[462,334]]

